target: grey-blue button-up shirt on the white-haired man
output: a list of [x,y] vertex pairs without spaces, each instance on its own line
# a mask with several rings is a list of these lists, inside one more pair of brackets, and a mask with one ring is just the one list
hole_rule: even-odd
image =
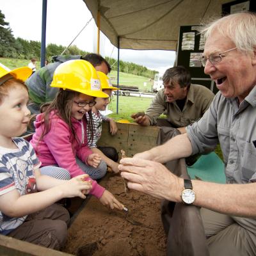
[[186,129],[193,154],[214,150],[220,141],[227,183],[256,180],[256,86],[240,105],[218,92],[204,116]]

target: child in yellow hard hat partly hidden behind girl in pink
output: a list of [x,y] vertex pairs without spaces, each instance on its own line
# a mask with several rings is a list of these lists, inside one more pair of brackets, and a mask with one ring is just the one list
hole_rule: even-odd
[[[97,74],[100,79],[100,84],[102,87],[102,92],[107,93],[109,97],[111,97],[111,92],[113,90],[118,90],[116,87],[113,87],[109,81],[108,76],[106,74],[97,71]],[[112,135],[116,134],[117,126],[115,121],[112,118],[107,116],[101,115],[100,110],[106,110],[109,104],[109,97],[108,98],[99,98],[95,99],[96,104],[92,107],[92,118],[93,118],[93,140],[90,138],[92,134],[87,131],[89,146],[93,153],[97,153],[100,155],[103,161],[113,170],[113,172],[118,173],[119,170],[117,168],[118,163],[118,153],[116,149],[113,147],[97,147],[97,141],[101,136],[102,131],[102,121],[109,122],[109,128]]]

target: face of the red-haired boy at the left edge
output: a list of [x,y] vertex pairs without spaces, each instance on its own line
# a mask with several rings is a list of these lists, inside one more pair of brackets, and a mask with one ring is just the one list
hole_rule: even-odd
[[[16,82],[15,82],[16,83]],[[0,138],[20,136],[27,131],[30,111],[28,92],[19,83],[10,88],[0,104]]]

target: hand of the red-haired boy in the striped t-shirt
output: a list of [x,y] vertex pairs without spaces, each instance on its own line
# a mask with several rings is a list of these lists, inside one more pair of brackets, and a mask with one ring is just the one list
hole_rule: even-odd
[[63,198],[74,196],[86,198],[85,195],[92,189],[92,180],[85,180],[87,177],[89,177],[88,174],[79,175],[61,184],[60,189],[63,191]]

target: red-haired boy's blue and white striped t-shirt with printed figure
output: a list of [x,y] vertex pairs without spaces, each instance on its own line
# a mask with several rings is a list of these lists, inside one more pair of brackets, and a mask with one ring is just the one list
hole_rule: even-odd
[[[33,147],[22,138],[13,138],[17,148],[0,147],[0,196],[13,189],[20,195],[35,191],[34,171],[40,167]],[[19,227],[27,216],[11,218],[0,211],[0,234]]]

